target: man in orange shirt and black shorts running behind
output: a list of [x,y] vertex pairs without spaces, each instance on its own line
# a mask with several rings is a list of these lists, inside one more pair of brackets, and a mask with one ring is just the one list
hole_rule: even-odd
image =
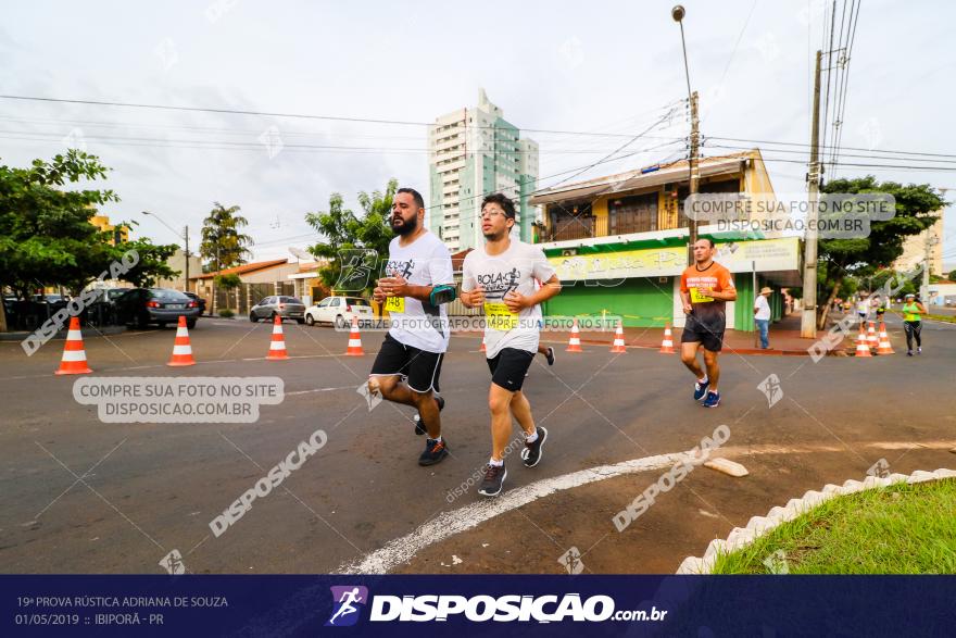
[[[694,373],[694,400],[703,399],[705,408],[720,404],[717,355],[724,346],[727,325],[725,304],[737,299],[733,275],[714,261],[715,252],[713,239],[699,239],[694,242],[694,263],[680,276],[680,299],[687,314],[680,336],[680,360]],[[697,350],[702,346],[706,372],[697,363]]]

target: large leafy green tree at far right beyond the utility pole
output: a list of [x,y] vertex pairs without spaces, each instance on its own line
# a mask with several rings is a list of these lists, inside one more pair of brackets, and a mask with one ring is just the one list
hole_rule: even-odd
[[932,213],[946,204],[928,184],[903,186],[895,182],[878,183],[872,175],[834,179],[827,183],[821,190],[829,193],[888,192],[896,200],[896,214],[892,220],[870,222],[869,237],[820,240],[819,297],[827,299],[817,311],[820,329],[826,327],[830,308],[847,276],[853,275],[857,279],[871,277],[878,270],[889,267],[903,254],[905,238],[932,226],[938,220]]

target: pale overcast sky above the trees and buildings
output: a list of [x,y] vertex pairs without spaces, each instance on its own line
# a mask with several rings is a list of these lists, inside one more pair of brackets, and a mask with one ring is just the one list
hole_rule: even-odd
[[[683,4],[702,134],[807,142],[810,63],[821,45],[825,3]],[[678,102],[687,97],[687,84],[671,5],[8,3],[0,24],[0,92],[425,123],[475,105],[483,87],[505,118],[523,129],[620,135],[643,132],[668,105],[678,104],[669,121],[628,151],[658,148],[595,166],[578,179],[682,152],[681,143],[663,146],[688,130]],[[863,2],[842,146],[864,149],[844,155],[866,157],[844,157],[844,162],[875,163],[871,157],[880,150],[956,152],[954,17],[952,2]],[[541,145],[542,177],[587,166],[628,141],[543,132],[527,136]],[[717,143],[737,142],[710,140],[704,153],[730,152]],[[149,210],[177,228],[189,224],[196,246],[213,201],[238,204],[250,221],[256,259],[290,257],[289,246],[314,242],[304,213],[326,210],[331,192],[341,192],[357,209],[360,190],[381,189],[390,177],[428,191],[420,124],[0,99],[0,161],[25,165],[67,145],[85,145],[113,168],[109,187],[122,201],[104,212],[114,221],[139,218],[136,235],[175,241],[165,226],[139,214]],[[806,161],[805,154],[767,149],[765,157]],[[910,159],[888,154],[882,163],[913,165]],[[772,161],[768,167],[778,193],[804,190],[805,165]],[[956,200],[952,171],[844,166],[836,175],[866,173],[953,187],[947,198]],[[542,179],[540,186],[569,175]],[[953,209],[946,212],[947,264],[956,264]]]

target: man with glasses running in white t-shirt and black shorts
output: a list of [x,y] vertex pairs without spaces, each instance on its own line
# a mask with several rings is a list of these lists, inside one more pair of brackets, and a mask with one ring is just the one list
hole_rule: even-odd
[[[501,193],[481,202],[481,232],[486,245],[465,257],[462,265],[462,302],[485,310],[485,342],[491,389],[491,459],[478,493],[501,493],[507,472],[504,449],[512,433],[512,416],[525,433],[521,451],[526,467],[541,460],[548,430],[534,427],[531,405],[521,392],[525,373],[538,352],[541,302],[561,291],[554,268],[537,246],[508,236],[515,225],[515,204]],[[534,279],[542,283],[534,289]]]

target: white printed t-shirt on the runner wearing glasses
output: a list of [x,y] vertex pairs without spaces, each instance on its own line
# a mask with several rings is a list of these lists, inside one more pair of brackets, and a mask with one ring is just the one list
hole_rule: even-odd
[[504,296],[510,290],[524,296],[533,295],[534,279],[543,283],[553,275],[554,267],[540,248],[515,239],[501,254],[489,255],[482,246],[465,257],[462,290],[470,292],[479,285],[485,289],[488,359],[494,359],[504,348],[538,351],[541,307],[536,304],[514,315],[504,305]]

